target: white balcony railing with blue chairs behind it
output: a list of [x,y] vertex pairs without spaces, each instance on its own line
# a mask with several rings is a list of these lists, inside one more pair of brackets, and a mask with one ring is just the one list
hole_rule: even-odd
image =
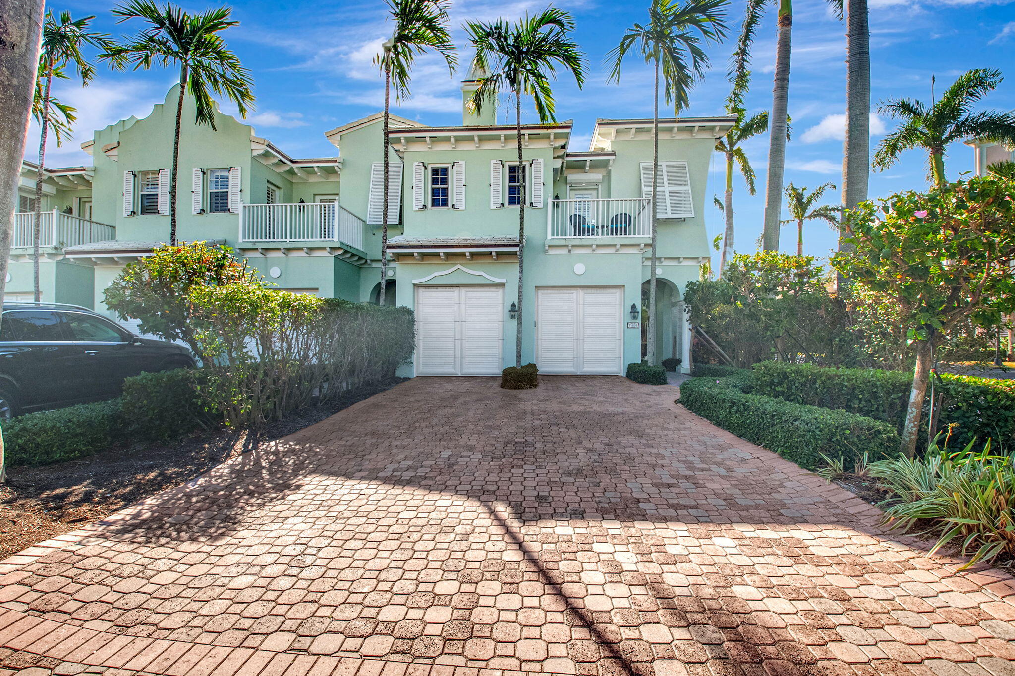
[[546,236],[550,240],[652,236],[651,202],[648,197],[550,200]]

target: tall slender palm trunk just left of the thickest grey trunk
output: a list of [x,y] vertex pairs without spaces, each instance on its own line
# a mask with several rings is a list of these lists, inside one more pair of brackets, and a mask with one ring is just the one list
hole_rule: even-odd
[[783,175],[786,171],[786,117],[790,96],[792,45],[793,0],[782,0],[779,8],[779,39],[775,43],[775,76],[771,92],[768,181],[765,186],[762,233],[764,251],[779,251],[779,216],[783,205]]

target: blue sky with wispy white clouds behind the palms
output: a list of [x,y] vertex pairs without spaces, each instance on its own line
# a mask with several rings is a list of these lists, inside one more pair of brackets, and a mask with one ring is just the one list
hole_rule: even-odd
[[[497,16],[517,17],[525,11],[546,6],[545,0],[454,0],[454,37],[462,49],[460,60],[467,64],[466,19],[488,20]],[[554,91],[557,117],[574,121],[571,149],[585,150],[597,117],[651,117],[651,72],[631,60],[625,65],[623,81],[606,83],[603,58],[623,29],[644,19],[645,0],[555,0],[555,6],[573,12],[577,39],[588,55],[591,72],[585,89],[573,81],[561,80]],[[256,110],[249,117],[258,135],[270,138],[294,156],[323,156],[335,149],[324,132],[381,109],[382,82],[373,57],[389,33],[382,2],[366,0],[290,0],[285,3],[236,1],[231,3],[241,24],[229,29],[229,47],[251,69],[255,79]],[[735,37],[742,19],[743,0],[730,7],[731,35]],[[829,11],[824,0],[797,0],[793,28],[793,66],[790,83],[790,113],[794,139],[787,147],[786,183],[815,187],[838,185],[841,172],[842,113],[844,110],[844,27]],[[114,35],[131,32],[131,22],[117,25],[109,2],[75,0],[55,2],[56,10],[69,10],[77,17],[95,14],[95,25]],[[217,4],[186,2],[197,11]],[[931,96],[931,76],[938,90],[970,68],[999,68],[1008,75],[1001,87],[984,102],[985,108],[1015,109],[1015,0],[870,0],[872,100],[888,97]],[[771,71],[774,55],[774,12],[770,11],[753,50],[754,77],[747,102],[751,111],[767,109],[771,103]],[[691,95],[686,115],[723,113],[729,90],[725,73],[732,39],[708,48],[712,70]],[[461,66],[449,77],[443,62],[423,58],[413,74],[412,97],[395,112],[426,124],[459,124]],[[91,130],[105,127],[130,115],[143,117],[163,99],[175,82],[176,73],[164,69],[148,72],[111,73],[99,70],[92,85],[81,89],[60,82],[57,94],[79,110],[76,138],[64,147],[48,150],[50,165],[88,163],[78,144],[90,138]],[[224,110],[229,107],[223,106]],[[876,111],[875,111],[875,115]],[[529,111],[530,121],[535,112]],[[872,120],[872,148],[894,122],[884,116]],[[38,131],[32,129],[28,148],[38,147]],[[736,249],[753,252],[761,230],[764,206],[764,172],[767,137],[745,146],[759,176],[758,195],[747,194],[742,181],[734,193]],[[35,151],[29,150],[28,158]],[[972,150],[956,144],[948,149],[946,170],[950,178],[972,168]],[[709,238],[723,229],[722,214],[712,205],[712,196],[721,195],[723,165],[716,155],[709,175],[705,218]],[[926,157],[919,151],[903,155],[890,170],[873,174],[871,196],[883,196],[904,189],[923,189]],[[829,191],[837,196],[837,191]],[[833,197],[837,199],[837,197]],[[785,217],[785,211],[784,211]],[[819,221],[805,232],[805,252],[826,256],[834,247],[834,234]],[[792,227],[784,229],[783,249],[795,251]]]

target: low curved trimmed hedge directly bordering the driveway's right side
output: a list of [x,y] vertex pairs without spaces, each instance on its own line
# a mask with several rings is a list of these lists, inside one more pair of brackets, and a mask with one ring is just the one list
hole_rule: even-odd
[[806,469],[826,464],[821,455],[852,469],[865,453],[877,460],[895,455],[899,445],[886,422],[747,394],[734,379],[692,378],[680,386],[678,403]]

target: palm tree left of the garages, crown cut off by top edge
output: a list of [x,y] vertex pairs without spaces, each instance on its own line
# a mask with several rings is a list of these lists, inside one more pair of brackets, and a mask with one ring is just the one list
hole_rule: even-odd
[[381,207],[381,293],[378,303],[384,306],[385,286],[388,280],[388,125],[391,113],[391,85],[394,79],[395,100],[409,95],[409,70],[416,55],[432,49],[448,63],[449,73],[455,72],[458,58],[455,44],[448,33],[448,6],[450,0],[386,0],[388,11],[395,19],[391,39],[384,44],[384,51],[376,63],[384,71],[384,205]]

